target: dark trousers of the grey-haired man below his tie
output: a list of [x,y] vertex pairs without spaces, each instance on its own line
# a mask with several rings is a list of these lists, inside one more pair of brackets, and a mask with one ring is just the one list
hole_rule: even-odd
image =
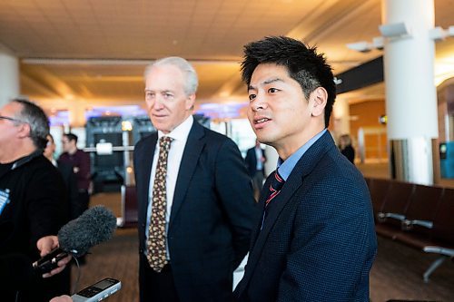
[[156,273],[144,255],[140,256],[139,291],[141,302],[178,302],[172,267],[167,264]]

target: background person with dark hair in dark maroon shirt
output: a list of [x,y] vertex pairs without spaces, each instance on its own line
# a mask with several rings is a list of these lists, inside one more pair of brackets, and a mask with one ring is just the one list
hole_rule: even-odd
[[59,163],[71,165],[77,178],[78,204],[72,207],[71,219],[79,217],[90,203],[90,156],[77,149],[77,136],[74,133],[65,133],[62,138],[63,153]]

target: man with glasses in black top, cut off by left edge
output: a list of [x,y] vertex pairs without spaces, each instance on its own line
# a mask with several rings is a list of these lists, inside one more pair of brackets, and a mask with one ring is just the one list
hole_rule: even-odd
[[[0,257],[40,258],[40,239],[55,235],[67,221],[64,180],[43,156],[48,133],[47,117],[34,103],[14,100],[0,108]],[[68,277],[69,272],[48,279],[35,277],[19,291],[2,282],[0,297],[2,301],[49,301],[69,292]]]

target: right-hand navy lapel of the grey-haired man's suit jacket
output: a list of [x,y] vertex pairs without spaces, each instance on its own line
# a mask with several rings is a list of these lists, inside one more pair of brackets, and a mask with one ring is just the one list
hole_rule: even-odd
[[192,175],[197,167],[197,162],[199,161],[203,146],[205,145],[205,141],[202,140],[204,133],[205,131],[203,130],[202,125],[194,120],[191,131],[188,135],[188,140],[186,141],[186,146],[184,147],[180,170],[178,171],[175,192],[173,194],[169,229],[172,228],[173,220],[178,215],[178,211],[180,210],[184,197],[186,196],[186,191],[189,188]]

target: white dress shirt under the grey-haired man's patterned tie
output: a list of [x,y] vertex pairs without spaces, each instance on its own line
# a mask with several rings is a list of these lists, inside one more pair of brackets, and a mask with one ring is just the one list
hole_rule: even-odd
[[[169,229],[169,221],[171,216],[171,209],[173,204],[173,195],[175,192],[176,180],[178,178],[178,171],[180,170],[180,164],[183,158],[184,147],[186,146],[186,141],[188,140],[189,132],[191,131],[193,123],[192,115],[189,116],[184,122],[182,122],[178,127],[173,129],[173,132],[164,134],[163,132],[158,131],[158,142],[154,148],[153,164],[152,171],[150,175],[150,184],[149,184],[149,202],[147,209],[147,219],[146,219],[146,237],[148,239],[149,233],[148,229],[150,226],[150,219],[152,217],[152,208],[153,208],[153,183],[154,183],[154,174],[156,174],[156,166],[158,164],[159,157],[159,139],[163,136],[169,136],[173,139],[171,147],[169,150],[167,158],[167,175],[165,177],[166,184],[166,196],[167,196],[167,211],[165,214],[165,233]],[[167,248],[167,259],[170,259],[169,248]],[[147,253],[147,251],[145,251]]]

